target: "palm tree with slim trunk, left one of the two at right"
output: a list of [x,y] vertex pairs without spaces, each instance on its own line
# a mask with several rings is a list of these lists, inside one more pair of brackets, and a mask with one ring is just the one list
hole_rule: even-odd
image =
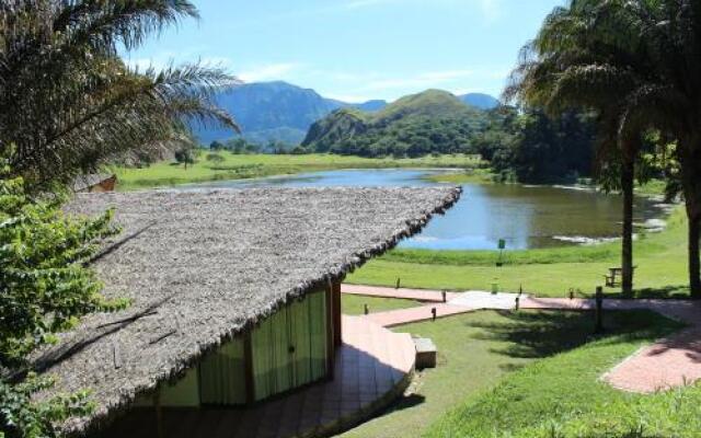
[[627,123],[625,102],[642,78],[629,66],[639,64],[633,51],[612,44],[616,26],[596,20],[602,0],[573,0],[555,8],[538,36],[524,47],[512,73],[505,99],[519,99],[561,114],[573,107],[595,110],[600,164],[618,169],[623,195],[622,290],[633,291],[633,186],[642,125]]

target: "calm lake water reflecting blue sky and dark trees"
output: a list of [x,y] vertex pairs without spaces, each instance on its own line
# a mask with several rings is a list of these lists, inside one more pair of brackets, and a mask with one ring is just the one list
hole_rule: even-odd
[[[223,181],[183,187],[323,187],[323,186],[426,186],[423,180],[438,170],[343,170],[285,177]],[[434,250],[493,250],[499,239],[507,249],[548,247],[575,242],[612,239],[620,234],[621,198],[595,192],[522,185],[463,187],[460,201],[445,216],[430,221],[423,233],[402,247]],[[637,199],[636,222],[658,218],[660,208]]]

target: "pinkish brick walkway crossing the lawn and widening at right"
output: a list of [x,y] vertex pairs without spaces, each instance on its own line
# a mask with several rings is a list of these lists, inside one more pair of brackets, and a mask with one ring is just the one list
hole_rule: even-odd
[[[406,298],[406,291],[411,291],[409,293],[414,297],[436,297],[436,293],[440,296],[440,291],[437,290],[417,291],[412,289],[399,289],[399,292],[394,296],[393,291],[395,290],[392,288],[346,285],[342,288],[344,293],[384,298]],[[434,318],[433,309],[436,310],[437,318],[474,312],[482,309],[513,309],[515,299],[516,295],[513,293],[492,296],[489,292],[478,291],[453,292],[449,295],[448,303],[432,303],[411,309],[371,313],[365,318],[390,327],[430,320]],[[521,309],[590,310],[594,308],[594,300],[522,296],[519,306]],[[604,302],[604,307],[607,310],[653,310],[689,325],[689,327],[673,334],[668,338],[659,339],[655,344],[640,349],[602,376],[604,381],[623,391],[651,393],[690,384],[701,379],[701,302],[607,299]]]

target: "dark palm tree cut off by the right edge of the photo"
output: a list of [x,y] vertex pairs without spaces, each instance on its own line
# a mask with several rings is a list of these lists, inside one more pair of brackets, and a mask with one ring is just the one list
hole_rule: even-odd
[[[645,127],[676,139],[680,182],[689,221],[689,287],[701,298],[701,2],[697,0],[607,0],[588,3],[588,35],[610,54],[587,64],[593,94],[618,102],[619,139],[640,141]],[[590,43],[589,43],[590,44]],[[586,62],[582,62],[584,65]]]

